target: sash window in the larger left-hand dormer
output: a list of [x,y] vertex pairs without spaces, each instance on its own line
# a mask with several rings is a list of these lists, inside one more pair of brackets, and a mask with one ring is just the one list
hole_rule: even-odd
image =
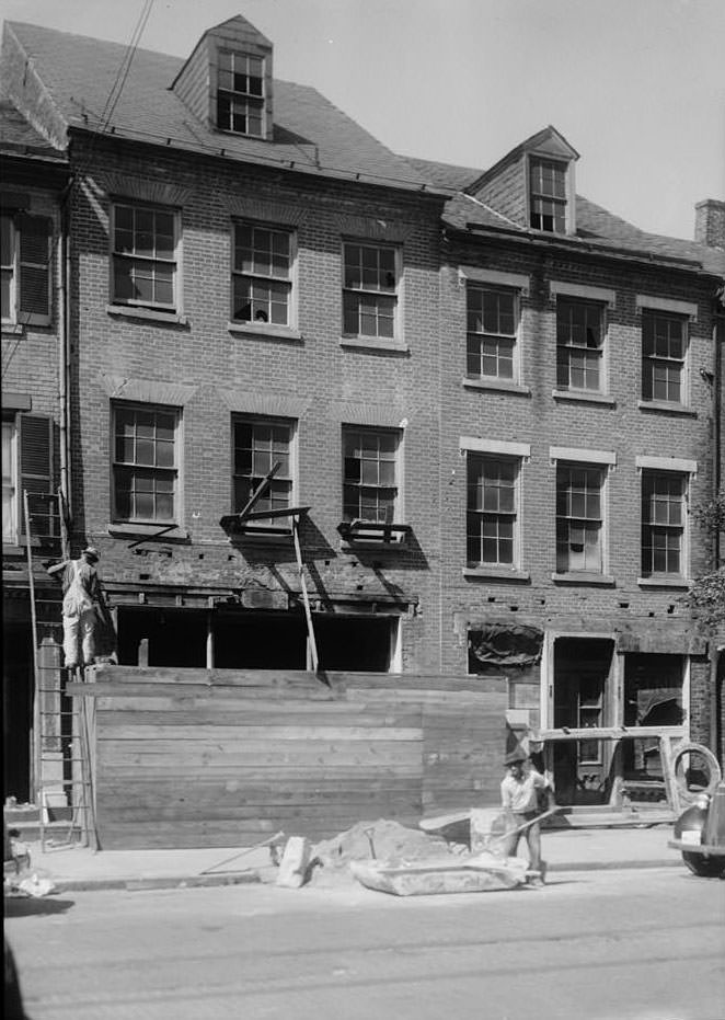
[[264,60],[219,50],[217,127],[238,135],[264,136]]

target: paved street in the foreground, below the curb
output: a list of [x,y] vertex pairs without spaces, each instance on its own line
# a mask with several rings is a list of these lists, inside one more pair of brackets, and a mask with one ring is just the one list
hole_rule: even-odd
[[349,884],[5,902],[31,1020],[723,1020],[725,882],[399,898]]

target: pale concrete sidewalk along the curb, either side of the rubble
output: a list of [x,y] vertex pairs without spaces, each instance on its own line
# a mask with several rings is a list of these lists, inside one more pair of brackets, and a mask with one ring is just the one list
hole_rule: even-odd
[[[542,835],[542,850],[549,872],[683,867],[679,851],[667,846],[671,835],[671,824],[552,829]],[[25,846],[30,873],[49,879],[57,892],[240,885],[262,881],[272,867],[268,847],[94,851],[46,843],[42,851],[39,843]]]

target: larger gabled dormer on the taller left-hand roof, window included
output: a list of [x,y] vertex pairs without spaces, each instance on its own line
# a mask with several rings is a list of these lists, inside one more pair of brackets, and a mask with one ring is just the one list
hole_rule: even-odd
[[172,91],[212,129],[272,140],[272,43],[241,15],[205,32]]

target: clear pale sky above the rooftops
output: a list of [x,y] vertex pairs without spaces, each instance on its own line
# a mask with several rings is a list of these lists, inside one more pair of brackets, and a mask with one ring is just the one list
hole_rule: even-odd
[[[128,43],[146,0],[0,0],[0,16]],[[402,156],[481,170],[548,124],[577,192],[692,238],[725,200],[725,0],[152,0],[140,45],[186,57],[242,14],[276,78]]]

